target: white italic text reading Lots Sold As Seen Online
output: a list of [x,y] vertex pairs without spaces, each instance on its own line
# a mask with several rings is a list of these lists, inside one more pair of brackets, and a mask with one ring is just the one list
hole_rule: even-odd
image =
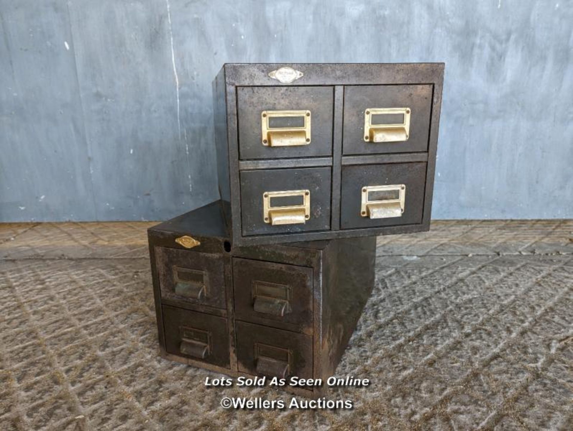
[[369,379],[360,379],[352,376],[343,378],[329,377],[325,382],[323,379],[304,379],[293,376],[291,378],[278,378],[272,377],[267,379],[265,376],[261,377],[237,377],[236,379],[221,377],[221,378],[205,378],[205,386],[246,386],[246,387],[262,387],[262,386],[292,386],[292,387],[320,387],[326,383],[327,386],[352,386],[352,387],[366,387],[370,385]]

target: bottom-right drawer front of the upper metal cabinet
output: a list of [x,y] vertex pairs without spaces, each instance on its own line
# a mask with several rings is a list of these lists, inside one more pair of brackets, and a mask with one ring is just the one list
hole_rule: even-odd
[[340,227],[422,223],[426,163],[342,167]]

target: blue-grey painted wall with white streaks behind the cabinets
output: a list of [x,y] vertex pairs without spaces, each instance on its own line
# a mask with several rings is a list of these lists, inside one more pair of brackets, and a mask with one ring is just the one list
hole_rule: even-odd
[[571,1],[0,0],[0,220],[217,198],[224,62],[444,61],[434,218],[573,217]]

